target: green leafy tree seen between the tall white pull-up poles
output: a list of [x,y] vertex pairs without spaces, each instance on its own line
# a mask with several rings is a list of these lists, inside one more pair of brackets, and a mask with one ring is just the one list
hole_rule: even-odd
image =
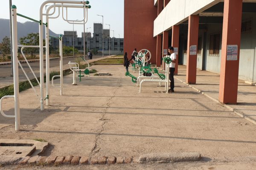
[[[21,45],[39,45],[39,33],[30,33],[26,37],[20,38]],[[44,40],[45,46],[45,40]],[[34,53],[38,51],[38,48],[24,48],[24,52],[27,54],[31,53],[31,57],[33,57]]]

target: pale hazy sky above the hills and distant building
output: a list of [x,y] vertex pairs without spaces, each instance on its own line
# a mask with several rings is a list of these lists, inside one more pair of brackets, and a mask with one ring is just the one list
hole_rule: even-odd
[[[46,0],[12,0],[12,4],[17,6],[17,13],[26,15],[35,20],[39,20],[39,8],[41,3]],[[85,28],[89,28],[88,32],[93,32],[93,23],[102,23],[102,17],[104,16],[104,28],[108,29],[111,25],[111,30],[114,30],[115,37],[123,38],[124,34],[124,0],[89,0],[92,8],[88,10],[88,22]],[[0,18],[9,19],[9,0],[1,0],[0,3]],[[50,4],[51,5],[51,4]],[[44,8],[45,12],[45,8]],[[82,20],[83,19],[83,9],[71,8],[68,10],[69,20]],[[58,10],[56,11],[58,13]],[[65,15],[64,15],[65,16]],[[25,18],[17,17],[17,21],[24,23],[28,21]],[[63,31],[72,31],[73,24],[69,24],[58,17],[58,19],[49,20],[49,28],[56,34],[63,34]],[[74,30],[77,31],[79,37],[81,37],[81,32],[84,30],[83,25],[74,25]],[[86,29],[85,29],[86,31]],[[111,31],[111,37],[113,37],[113,31]]]

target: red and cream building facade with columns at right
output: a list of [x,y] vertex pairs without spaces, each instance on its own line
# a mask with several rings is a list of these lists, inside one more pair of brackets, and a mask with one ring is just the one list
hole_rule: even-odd
[[256,0],[125,0],[124,23],[125,51],[148,48],[160,66],[173,46],[187,83],[196,69],[220,74],[223,103],[237,102],[238,79],[256,82]]

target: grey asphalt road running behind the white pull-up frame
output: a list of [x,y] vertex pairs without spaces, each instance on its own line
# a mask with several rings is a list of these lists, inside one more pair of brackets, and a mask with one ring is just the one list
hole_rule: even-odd
[[[102,56],[93,56],[93,59],[95,58],[100,58]],[[64,58],[63,59],[63,64],[66,65],[69,61],[74,62],[75,58],[70,57],[70,58]],[[39,67],[39,61],[38,62],[30,62],[29,63],[31,68],[33,69],[34,72],[37,72],[40,70]],[[24,70],[26,72],[31,72],[29,69],[29,66],[26,63],[22,63],[21,64],[22,67],[24,68]],[[50,60],[50,68],[52,67],[56,67],[59,65],[59,60],[58,59],[54,59],[54,60]],[[0,65],[0,79],[4,79],[6,77],[10,77],[11,73],[12,73],[12,65]],[[45,61],[44,61],[44,68],[45,68]],[[24,75],[23,71],[21,70],[21,68],[19,67],[19,75]]]

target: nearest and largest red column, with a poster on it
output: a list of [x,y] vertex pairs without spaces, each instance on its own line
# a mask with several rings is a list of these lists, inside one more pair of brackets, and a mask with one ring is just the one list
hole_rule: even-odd
[[[219,90],[219,100],[223,103],[237,103],[242,5],[242,0],[224,0]],[[237,49],[231,53],[233,57],[227,54],[232,47]]]

